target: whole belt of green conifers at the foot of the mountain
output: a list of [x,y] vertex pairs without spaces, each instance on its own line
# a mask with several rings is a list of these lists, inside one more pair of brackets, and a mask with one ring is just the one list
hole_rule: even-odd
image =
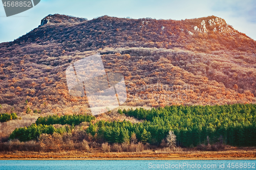
[[[237,146],[256,144],[254,137],[256,135],[256,105],[253,104],[180,105],[151,110],[124,109],[118,112],[143,119],[143,122],[132,124],[126,120],[114,122],[99,120],[92,123],[93,117],[89,116],[90,118],[87,119],[87,122],[90,122],[89,127],[82,131],[89,136],[90,140],[100,143],[142,142],[160,145],[169,131],[173,131],[176,135],[176,144],[181,147],[216,142]],[[55,118],[58,120],[52,120]],[[15,129],[10,138],[17,138],[21,141],[35,140],[42,133],[70,133],[72,127],[78,125],[74,123],[76,119],[67,121],[72,127],[67,125],[56,129],[51,125],[51,123],[67,124],[63,122],[63,119],[61,116],[40,117],[36,124],[28,128]]]

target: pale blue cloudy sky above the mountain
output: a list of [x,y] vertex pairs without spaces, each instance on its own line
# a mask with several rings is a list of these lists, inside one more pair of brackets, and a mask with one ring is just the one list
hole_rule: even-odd
[[0,4],[0,43],[30,32],[42,18],[55,13],[88,19],[109,15],[181,20],[215,15],[256,40],[255,0],[41,0],[35,7],[9,17]]

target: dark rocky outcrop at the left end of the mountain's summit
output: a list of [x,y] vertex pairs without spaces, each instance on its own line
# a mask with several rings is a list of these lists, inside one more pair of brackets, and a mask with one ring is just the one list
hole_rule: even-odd
[[47,15],[45,18],[41,19],[41,23],[38,27],[44,26],[47,23],[79,23],[87,20],[87,18],[77,18],[68,15],[50,14]]

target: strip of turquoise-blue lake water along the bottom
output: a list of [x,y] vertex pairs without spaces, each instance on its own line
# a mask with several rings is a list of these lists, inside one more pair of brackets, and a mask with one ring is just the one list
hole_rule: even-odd
[[256,169],[256,160],[0,160],[0,169]]

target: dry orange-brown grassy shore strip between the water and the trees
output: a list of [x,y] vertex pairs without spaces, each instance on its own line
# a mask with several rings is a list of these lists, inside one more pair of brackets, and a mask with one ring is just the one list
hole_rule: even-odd
[[0,160],[256,160],[256,149],[228,151],[144,152],[0,152]]

